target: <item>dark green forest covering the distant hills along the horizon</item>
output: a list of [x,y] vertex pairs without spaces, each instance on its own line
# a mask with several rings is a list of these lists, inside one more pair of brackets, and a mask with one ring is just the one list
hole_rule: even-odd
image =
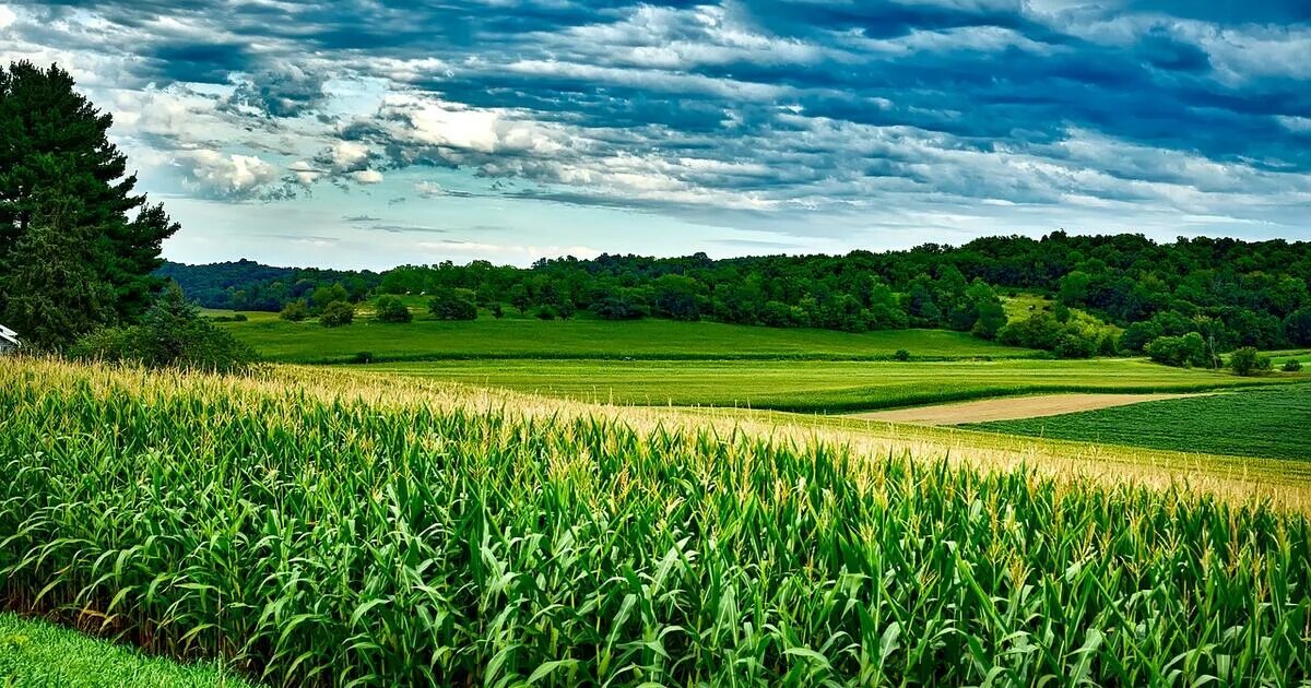
[[[208,308],[313,312],[330,301],[425,295],[433,313],[494,315],[514,308],[543,318],[581,311],[610,320],[662,317],[773,328],[865,332],[947,328],[1079,358],[1145,350],[1158,338],[1198,337],[1215,356],[1242,346],[1311,346],[1311,244],[1282,240],[1141,235],[1041,240],[987,237],[962,246],[847,256],[711,259],[600,256],[543,259],[531,267],[406,265],[383,273],[269,267],[249,261],[166,263],[172,278]],[[1047,295],[1050,311],[1007,321],[1002,296]],[[1118,328],[1071,318],[1082,309]],[[463,316],[461,316],[463,317]],[[476,317],[476,316],[475,316]],[[1122,328],[1122,330],[1121,330]]]

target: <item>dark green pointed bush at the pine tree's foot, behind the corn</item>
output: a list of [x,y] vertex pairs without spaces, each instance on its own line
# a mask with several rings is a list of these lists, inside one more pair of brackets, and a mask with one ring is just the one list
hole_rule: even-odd
[[97,330],[73,343],[68,354],[79,359],[208,372],[239,372],[257,359],[249,345],[202,317],[177,284],[170,284],[155,300],[140,325]]

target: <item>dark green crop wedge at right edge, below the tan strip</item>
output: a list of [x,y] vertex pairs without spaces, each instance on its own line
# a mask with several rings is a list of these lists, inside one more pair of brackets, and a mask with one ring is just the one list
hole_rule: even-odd
[[966,427],[1186,452],[1311,460],[1311,385],[1244,389]]

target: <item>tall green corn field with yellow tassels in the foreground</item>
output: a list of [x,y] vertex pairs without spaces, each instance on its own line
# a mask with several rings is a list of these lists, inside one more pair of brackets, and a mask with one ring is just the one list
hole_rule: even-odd
[[0,362],[4,604],[271,685],[1298,685],[1311,528],[1186,487]]

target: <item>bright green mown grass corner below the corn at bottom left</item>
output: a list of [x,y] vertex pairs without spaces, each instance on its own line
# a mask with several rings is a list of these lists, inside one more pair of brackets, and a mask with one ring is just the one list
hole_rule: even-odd
[[249,685],[211,663],[180,664],[45,621],[0,613],[0,685],[92,688]]

